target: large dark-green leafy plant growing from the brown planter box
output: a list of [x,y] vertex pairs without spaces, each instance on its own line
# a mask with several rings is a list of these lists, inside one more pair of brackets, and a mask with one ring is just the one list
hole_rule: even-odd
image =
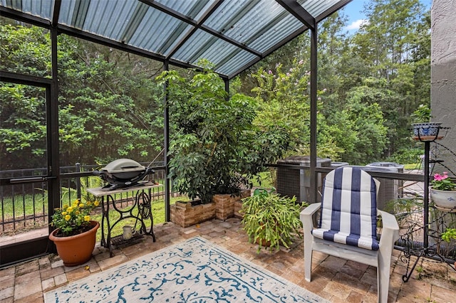
[[175,190],[204,204],[216,194],[239,196],[241,188],[251,188],[252,176],[279,159],[289,140],[280,127],[255,127],[254,99],[230,97],[211,65],[199,65],[204,70],[190,79],[170,70],[157,80],[167,83],[171,115],[168,176]]

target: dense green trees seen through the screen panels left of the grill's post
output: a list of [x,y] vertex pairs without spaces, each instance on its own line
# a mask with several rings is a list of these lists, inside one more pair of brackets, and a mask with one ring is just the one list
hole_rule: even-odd
[[[0,69],[51,75],[49,33],[36,26],[0,26]],[[150,161],[162,150],[161,68],[105,46],[58,36],[61,164],[107,163],[120,156]],[[0,83],[2,169],[43,166],[46,153],[46,94],[41,87]],[[33,162],[34,161],[34,162]],[[45,162],[46,163],[46,162]],[[14,166],[16,164],[16,166]]]

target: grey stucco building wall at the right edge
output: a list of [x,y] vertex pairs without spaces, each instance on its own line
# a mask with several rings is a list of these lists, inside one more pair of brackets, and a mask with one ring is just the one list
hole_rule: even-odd
[[[439,143],[456,154],[456,0],[433,0],[431,9],[431,109],[432,121],[447,130]],[[441,129],[440,134],[445,134]],[[437,159],[456,173],[456,156],[440,148]],[[434,171],[446,171],[435,167]]]

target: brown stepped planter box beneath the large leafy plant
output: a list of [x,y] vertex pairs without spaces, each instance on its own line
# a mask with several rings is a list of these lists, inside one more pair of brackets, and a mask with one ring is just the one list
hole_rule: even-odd
[[250,196],[250,190],[241,191],[240,196],[215,195],[211,203],[192,206],[191,201],[177,201],[170,206],[170,219],[172,223],[187,228],[197,223],[217,218],[227,220],[227,218],[242,218],[239,210],[242,207],[241,199]]

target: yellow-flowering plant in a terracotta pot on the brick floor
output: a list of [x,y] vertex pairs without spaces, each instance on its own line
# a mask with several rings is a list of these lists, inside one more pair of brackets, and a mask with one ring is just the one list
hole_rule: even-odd
[[100,223],[90,220],[90,212],[98,204],[98,201],[81,203],[76,199],[71,206],[54,210],[51,225],[56,230],[49,235],[49,239],[55,243],[64,265],[81,265],[92,257]]

